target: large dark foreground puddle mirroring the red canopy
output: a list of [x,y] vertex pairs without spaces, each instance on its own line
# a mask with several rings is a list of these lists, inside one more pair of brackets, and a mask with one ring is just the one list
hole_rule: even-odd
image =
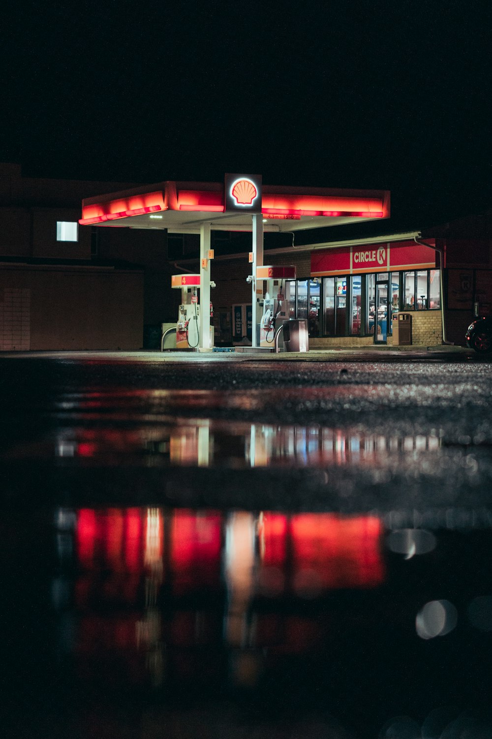
[[16,516],[2,523],[4,667],[17,726],[34,736],[72,724],[90,736],[485,735],[492,530],[473,517]]

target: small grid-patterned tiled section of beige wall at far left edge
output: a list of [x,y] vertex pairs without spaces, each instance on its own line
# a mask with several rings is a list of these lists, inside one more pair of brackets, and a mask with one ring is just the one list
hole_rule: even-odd
[[0,291],[0,351],[28,351],[30,346],[31,291],[5,287]]

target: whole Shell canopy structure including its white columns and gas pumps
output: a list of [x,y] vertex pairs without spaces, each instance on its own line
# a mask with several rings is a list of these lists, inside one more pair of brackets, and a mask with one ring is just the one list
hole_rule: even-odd
[[[357,221],[389,218],[389,191],[334,190],[326,188],[285,187],[264,185],[259,174],[226,174],[224,183],[164,182],[156,185],[114,192],[82,201],[81,225],[129,228],[166,228],[170,233],[200,234],[201,270],[197,275],[173,276],[172,287],[185,290],[183,296],[199,287],[200,304],[187,313],[188,303],[180,305],[176,324],[178,335],[184,336],[187,347],[210,350],[210,249],[212,230],[252,231],[252,251],[249,253],[252,273],[252,325],[261,327],[268,337],[274,329],[269,318],[271,290],[275,279],[295,279],[294,267],[263,265],[263,232],[303,231],[326,225],[342,225]],[[281,272],[281,274],[280,274]],[[190,282],[188,282],[190,280]],[[269,284],[271,283],[271,285]],[[263,300],[263,287],[266,298]],[[280,306],[283,298],[277,298]],[[260,303],[265,310],[259,321]],[[200,319],[198,321],[198,319]],[[268,319],[268,326],[266,321]],[[195,329],[190,343],[190,326]],[[181,339],[180,339],[181,341]],[[269,340],[268,340],[269,341]],[[194,343],[196,342],[196,343]],[[271,342],[269,342],[271,343]],[[256,330],[252,347],[257,348]]]

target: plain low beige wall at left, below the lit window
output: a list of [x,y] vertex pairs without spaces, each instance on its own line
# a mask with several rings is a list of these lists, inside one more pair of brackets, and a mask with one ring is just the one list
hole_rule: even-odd
[[143,274],[0,268],[0,350],[142,348]]

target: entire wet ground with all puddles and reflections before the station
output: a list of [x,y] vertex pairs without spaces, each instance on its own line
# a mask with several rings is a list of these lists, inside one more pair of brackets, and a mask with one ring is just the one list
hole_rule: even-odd
[[8,738],[492,732],[492,363],[0,357]]

